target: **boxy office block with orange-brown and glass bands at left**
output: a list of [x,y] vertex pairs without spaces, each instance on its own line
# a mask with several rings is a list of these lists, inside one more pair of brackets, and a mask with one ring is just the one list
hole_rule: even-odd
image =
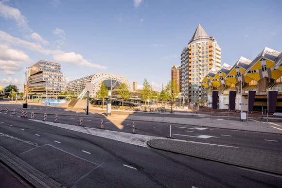
[[30,67],[29,95],[47,95],[53,98],[58,96],[63,89],[61,64],[40,60]]

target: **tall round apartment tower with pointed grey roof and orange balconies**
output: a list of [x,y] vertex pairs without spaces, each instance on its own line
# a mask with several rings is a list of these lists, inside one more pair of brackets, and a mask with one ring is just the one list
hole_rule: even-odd
[[188,45],[181,52],[181,95],[186,103],[204,103],[208,100],[201,80],[210,69],[221,66],[221,49],[214,37],[198,24]]

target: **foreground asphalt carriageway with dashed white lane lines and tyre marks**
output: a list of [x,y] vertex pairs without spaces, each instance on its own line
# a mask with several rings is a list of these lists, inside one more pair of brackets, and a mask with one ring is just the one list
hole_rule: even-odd
[[[59,120],[76,121],[68,116]],[[84,120],[92,127],[96,126],[93,121]],[[129,132],[131,127],[123,131],[127,129]],[[3,113],[0,133],[3,147],[67,187],[282,187],[281,176],[95,137]],[[159,130],[157,134],[163,132]]]

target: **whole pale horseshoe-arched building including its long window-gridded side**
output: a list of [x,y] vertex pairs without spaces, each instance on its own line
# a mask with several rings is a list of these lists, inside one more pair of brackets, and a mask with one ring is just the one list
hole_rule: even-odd
[[93,91],[89,93],[89,96],[91,98],[95,98],[96,92],[100,89],[102,82],[104,82],[108,90],[111,89],[111,85],[112,85],[112,89],[115,89],[121,83],[125,83],[128,86],[128,89],[131,90],[127,78],[121,75],[109,74],[109,73],[98,73],[73,80],[67,84],[66,90],[69,93],[73,93],[74,96],[77,96],[78,98],[82,99],[86,94],[86,90],[85,90],[86,83],[91,83],[93,84]]

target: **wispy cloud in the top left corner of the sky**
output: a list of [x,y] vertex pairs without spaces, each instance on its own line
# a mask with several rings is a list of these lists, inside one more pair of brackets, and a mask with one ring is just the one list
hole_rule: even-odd
[[24,17],[17,8],[5,5],[0,1],[0,16],[6,19],[13,19],[16,21],[18,27],[31,31],[27,24],[27,19]]

